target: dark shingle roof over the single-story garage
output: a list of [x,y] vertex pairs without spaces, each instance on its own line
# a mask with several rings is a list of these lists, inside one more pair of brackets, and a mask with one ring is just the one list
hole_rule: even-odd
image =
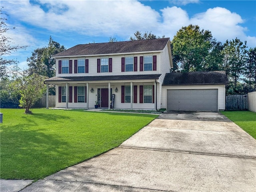
[[163,85],[229,84],[224,71],[167,73]]

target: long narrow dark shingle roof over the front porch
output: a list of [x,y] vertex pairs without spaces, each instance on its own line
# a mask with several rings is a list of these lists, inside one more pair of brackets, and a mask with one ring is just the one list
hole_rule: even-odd
[[74,76],[74,77],[52,77],[46,79],[46,83],[52,81],[104,81],[104,80],[146,80],[146,79],[158,79],[161,74],[150,75],[110,75],[110,76]]

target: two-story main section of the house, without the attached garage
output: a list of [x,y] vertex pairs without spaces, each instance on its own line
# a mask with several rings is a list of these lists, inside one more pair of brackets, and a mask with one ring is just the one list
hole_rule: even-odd
[[[159,109],[170,39],[80,44],[56,55],[56,107]],[[110,102],[111,101],[111,102]]]

